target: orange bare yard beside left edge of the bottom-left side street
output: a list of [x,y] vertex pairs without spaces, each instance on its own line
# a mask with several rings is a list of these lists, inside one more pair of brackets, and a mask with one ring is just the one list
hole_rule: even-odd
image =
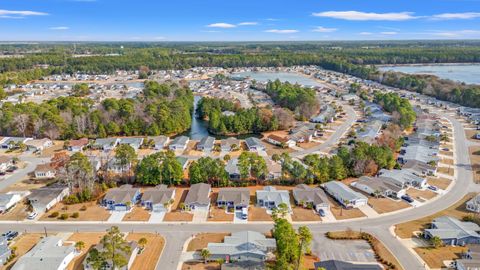
[[157,268],[158,259],[162,254],[165,240],[162,236],[153,233],[129,233],[128,241],[137,241],[140,238],[147,239],[147,244],[142,254],[138,254],[133,261],[132,270],[154,270]]

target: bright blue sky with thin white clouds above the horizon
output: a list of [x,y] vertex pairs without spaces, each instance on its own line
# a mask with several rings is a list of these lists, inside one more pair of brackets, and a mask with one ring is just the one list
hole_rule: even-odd
[[479,39],[480,0],[1,0],[3,41]]

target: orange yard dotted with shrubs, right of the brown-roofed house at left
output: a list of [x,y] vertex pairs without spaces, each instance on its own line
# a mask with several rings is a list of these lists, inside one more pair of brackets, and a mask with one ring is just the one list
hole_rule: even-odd
[[[52,213],[54,212],[58,212],[58,216],[52,216]],[[78,217],[71,217],[73,213],[78,213]],[[62,214],[68,214],[68,221],[107,221],[110,217],[110,213],[96,202],[86,202],[72,205],[65,205],[64,203],[60,202],[46,212],[40,218],[40,220],[60,221],[58,217]]]

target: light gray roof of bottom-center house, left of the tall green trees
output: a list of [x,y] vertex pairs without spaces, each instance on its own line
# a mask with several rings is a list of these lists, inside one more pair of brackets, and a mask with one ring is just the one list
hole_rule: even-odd
[[266,238],[259,232],[243,231],[232,233],[232,236],[225,236],[223,243],[208,243],[207,249],[212,255],[239,255],[253,253],[266,256],[275,249],[277,244],[274,238]]

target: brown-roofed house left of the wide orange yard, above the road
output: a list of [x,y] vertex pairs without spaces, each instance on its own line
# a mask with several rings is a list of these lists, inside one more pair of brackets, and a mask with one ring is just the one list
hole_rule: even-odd
[[27,196],[27,201],[32,206],[34,212],[43,213],[50,210],[68,195],[70,195],[68,187],[42,187],[32,190],[30,195]]

